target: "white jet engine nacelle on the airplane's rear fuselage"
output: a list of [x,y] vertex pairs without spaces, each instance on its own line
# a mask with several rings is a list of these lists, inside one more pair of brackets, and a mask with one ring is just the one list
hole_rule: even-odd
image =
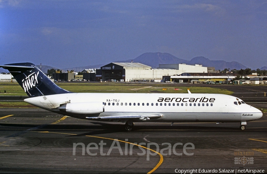
[[71,114],[99,114],[105,111],[104,102],[66,103],[57,108]]

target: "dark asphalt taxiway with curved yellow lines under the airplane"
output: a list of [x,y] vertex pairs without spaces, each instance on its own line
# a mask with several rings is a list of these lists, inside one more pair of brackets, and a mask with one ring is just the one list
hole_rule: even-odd
[[[235,93],[240,92],[248,99],[257,95],[244,89]],[[249,101],[266,108],[264,102]],[[135,123],[125,132],[123,123],[0,108],[0,173],[266,172],[267,113],[247,122],[246,130],[239,125],[151,122]]]

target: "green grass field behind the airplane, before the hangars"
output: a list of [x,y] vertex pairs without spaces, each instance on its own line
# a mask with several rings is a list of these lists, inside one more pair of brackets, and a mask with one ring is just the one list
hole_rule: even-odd
[[[106,93],[187,93],[188,87],[175,84],[159,83],[68,83],[61,82],[57,85],[71,92],[106,92]],[[163,90],[166,88],[166,90]],[[231,95],[233,92],[211,87],[189,87],[192,93],[217,93]],[[175,90],[178,89],[178,90]],[[6,93],[4,93],[4,90]],[[23,96],[26,95],[18,83],[0,83],[0,96]],[[26,102],[0,102],[0,108],[37,108]]]

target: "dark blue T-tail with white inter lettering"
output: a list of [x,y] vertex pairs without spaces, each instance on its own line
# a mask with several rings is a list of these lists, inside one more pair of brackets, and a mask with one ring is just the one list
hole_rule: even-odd
[[71,93],[58,87],[32,63],[12,63],[0,67],[12,74],[29,97]]

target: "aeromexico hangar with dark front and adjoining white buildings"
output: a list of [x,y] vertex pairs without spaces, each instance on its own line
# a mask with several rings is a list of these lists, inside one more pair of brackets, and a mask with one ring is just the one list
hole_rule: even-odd
[[[162,80],[163,76],[182,74],[184,72],[207,73],[202,65],[161,64],[159,68],[142,63],[109,63],[96,70],[96,81],[116,80],[120,82],[138,82],[139,80]],[[160,82],[160,81],[159,81]]]

